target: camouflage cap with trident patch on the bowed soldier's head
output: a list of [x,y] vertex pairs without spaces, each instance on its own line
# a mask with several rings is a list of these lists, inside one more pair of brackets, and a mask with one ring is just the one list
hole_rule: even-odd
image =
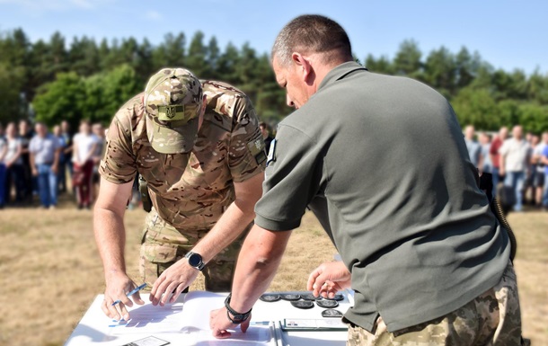
[[146,84],[146,136],[161,154],[188,153],[198,137],[202,87],[184,68],[164,68]]

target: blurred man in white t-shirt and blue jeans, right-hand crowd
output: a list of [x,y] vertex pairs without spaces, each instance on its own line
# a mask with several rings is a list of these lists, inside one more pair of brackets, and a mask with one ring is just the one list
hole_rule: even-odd
[[504,184],[515,191],[514,211],[523,209],[523,188],[526,169],[531,155],[531,146],[523,138],[523,129],[517,125],[512,129],[512,138],[504,141],[499,149],[500,175],[504,175]]

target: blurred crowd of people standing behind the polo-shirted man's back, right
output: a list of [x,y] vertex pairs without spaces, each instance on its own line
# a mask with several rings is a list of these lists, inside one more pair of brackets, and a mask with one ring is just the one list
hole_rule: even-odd
[[478,133],[473,126],[464,129],[464,140],[472,163],[480,173],[491,173],[493,196],[506,188],[514,211],[524,205],[548,210],[548,131],[543,134],[524,133],[521,126],[506,127],[490,134]]

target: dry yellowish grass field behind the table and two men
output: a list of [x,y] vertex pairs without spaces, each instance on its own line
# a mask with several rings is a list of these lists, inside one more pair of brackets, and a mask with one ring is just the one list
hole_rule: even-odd
[[[92,211],[65,201],[57,210],[0,211],[0,346],[62,345],[104,288],[92,228]],[[145,212],[128,210],[128,271],[138,280],[137,254]],[[548,344],[548,214],[512,214],[518,240],[516,269],[524,335]],[[315,218],[307,214],[292,235],[271,290],[303,290],[308,273],[336,253]],[[298,265],[295,265],[298,263]],[[191,288],[203,287],[198,280]]]

